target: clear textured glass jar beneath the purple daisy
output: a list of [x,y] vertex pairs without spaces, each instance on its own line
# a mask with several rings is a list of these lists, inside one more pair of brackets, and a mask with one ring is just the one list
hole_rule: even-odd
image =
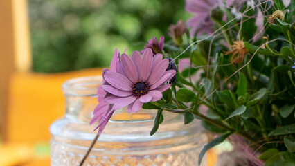
[[[95,138],[97,123],[89,125],[98,104],[102,77],[65,82],[66,115],[51,125],[51,165],[79,165]],[[179,113],[163,111],[164,120],[150,136],[157,110],[115,111],[84,165],[197,165],[207,137],[200,122],[184,125]],[[206,165],[203,158],[202,165]]]

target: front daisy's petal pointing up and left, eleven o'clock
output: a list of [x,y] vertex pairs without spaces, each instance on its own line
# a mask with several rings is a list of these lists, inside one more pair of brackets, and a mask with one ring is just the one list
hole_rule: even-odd
[[129,80],[133,83],[136,83],[138,81],[138,74],[132,59],[128,55],[123,54],[121,55],[121,61],[123,70],[129,78]]

